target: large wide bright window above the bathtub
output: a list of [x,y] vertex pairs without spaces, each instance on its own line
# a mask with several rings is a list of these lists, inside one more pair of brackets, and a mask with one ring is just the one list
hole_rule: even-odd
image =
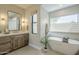
[[68,32],[79,23],[79,14],[50,18],[50,31]]

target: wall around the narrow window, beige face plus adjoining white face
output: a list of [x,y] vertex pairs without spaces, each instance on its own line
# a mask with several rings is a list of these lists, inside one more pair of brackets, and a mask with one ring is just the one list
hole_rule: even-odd
[[[37,34],[32,34],[32,20],[31,15],[37,10],[38,12],[38,27]],[[33,5],[26,10],[26,19],[29,24],[29,45],[41,49],[41,36],[44,35],[45,21],[48,20],[48,13],[40,5]]]

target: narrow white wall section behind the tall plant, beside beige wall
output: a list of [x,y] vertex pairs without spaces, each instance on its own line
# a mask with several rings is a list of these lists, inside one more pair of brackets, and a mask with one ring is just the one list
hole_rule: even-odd
[[49,26],[49,15],[48,15],[48,12],[41,6],[40,7],[40,34],[41,34],[41,37],[43,37],[45,35],[45,25],[46,23],[48,24]]

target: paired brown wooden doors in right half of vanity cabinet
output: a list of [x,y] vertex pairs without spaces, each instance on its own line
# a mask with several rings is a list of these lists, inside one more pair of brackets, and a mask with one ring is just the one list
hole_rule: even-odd
[[16,35],[13,37],[13,49],[25,46],[25,39],[23,35]]

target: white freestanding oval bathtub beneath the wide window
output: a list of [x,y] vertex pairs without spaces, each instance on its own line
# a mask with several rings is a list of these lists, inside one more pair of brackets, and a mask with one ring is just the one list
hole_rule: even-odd
[[79,51],[79,41],[69,39],[68,43],[62,42],[62,38],[49,37],[48,43],[52,50],[66,55],[74,55]]

